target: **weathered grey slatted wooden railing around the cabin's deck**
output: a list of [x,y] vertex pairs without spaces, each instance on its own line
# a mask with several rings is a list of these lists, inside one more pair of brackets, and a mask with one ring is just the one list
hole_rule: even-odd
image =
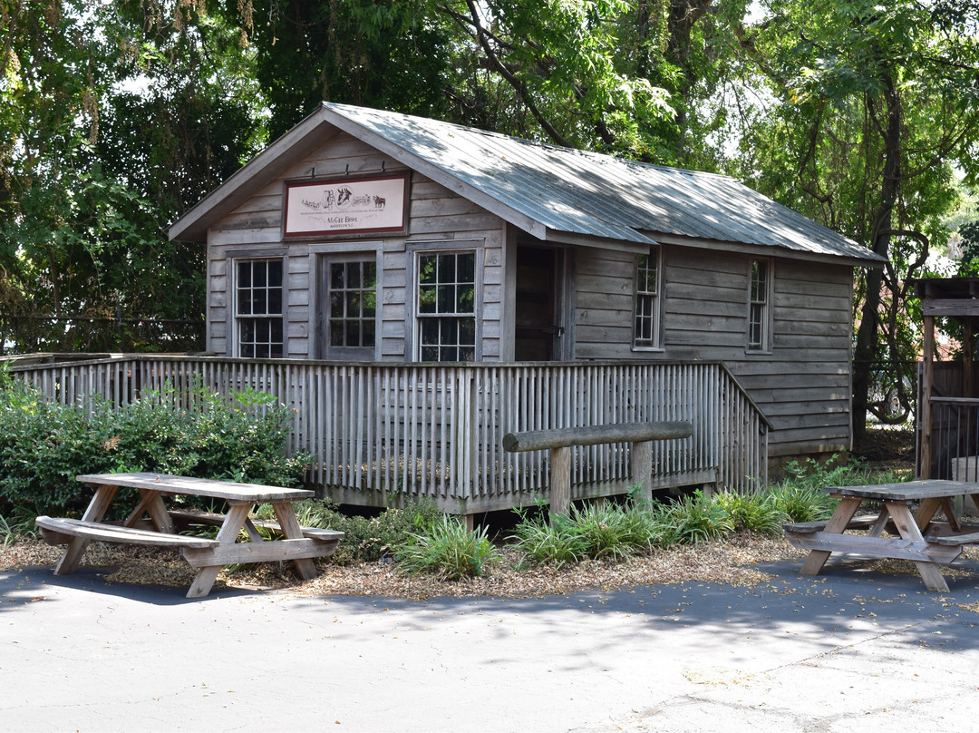
[[[396,365],[125,356],[14,366],[16,377],[70,403],[100,394],[115,405],[173,390],[191,407],[203,384],[247,388],[293,410],[290,450],[316,456],[309,482],[334,501],[384,505],[432,498],[477,513],[547,494],[547,460],[502,449],[508,432],[612,422],[689,420],[693,435],[657,442],[656,488],[709,484],[738,492],[767,478],[765,416],[721,364]],[[629,445],[572,457],[573,498],[629,490]]]

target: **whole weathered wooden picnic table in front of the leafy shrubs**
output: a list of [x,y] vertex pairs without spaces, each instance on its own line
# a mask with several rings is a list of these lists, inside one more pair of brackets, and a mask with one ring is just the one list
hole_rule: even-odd
[[[221,567],[240,562],[293,561],[303,580],[316,576],[312,558],[333,554],[343,532],[300,526],[293,502],[309,499],[313,492],[279,486],[215,481],[205,478],[170,476],[161,473],[97,473],[81,475],[77,480],[95,489],[92,501],[81,519],[38,516],[35,520],[41,536],[52,545],[67,544],[65,555],[55,565],[56,575],[74,572],[85,548],[93,540],[136,545],[176,547],[184,560],[197,568],[197,575],[187,598],[207,596]],[[104,522],[119,487],[137,489],[139,500],[121,523]],[[165,496],[197,496],[223,500],[226,513],[201,513],[168,510]],[[250,514],[256,505],[271,504],[278,521],[259,521]],[[148,515],[149,522],[143,520]],[[178,534],[180,525],[214,524],[219,527],[215,539]],[[149,523],[150,527],[138,527]],[[268,541],[258,531],[262,526],[283,537]],[[238,542],[242,530],[248,542]]]

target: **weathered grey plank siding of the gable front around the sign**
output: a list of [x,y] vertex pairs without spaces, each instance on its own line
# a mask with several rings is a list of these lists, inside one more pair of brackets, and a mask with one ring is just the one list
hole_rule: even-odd
[[479,278],[479,353],[485,361],[498,361],[503,329],[503,277],[506,264],[505,225],[498,217],[449,191],[418,172],[409,184],[410,205],[406,235],[323,237],[302,241],[282,239],[284,184],[287,180],[405,171],[374,148],[338,133],[314,155],[284,171],[245,204],[210,229],[208,244],[208,351],[232,356],[232,319],[229,309],[229,262],[235,257],[284,257],[285,355],[292,359],[317,358],[314,334],[318,318],[317,258],[335,253],[380,253],[378,305],[381,311],[375,359],[403,362],[411,359],[412,291],[407,281],[409,259],[415,251],[438,248],[455,241],[459,249],[475,249],[482,263]]

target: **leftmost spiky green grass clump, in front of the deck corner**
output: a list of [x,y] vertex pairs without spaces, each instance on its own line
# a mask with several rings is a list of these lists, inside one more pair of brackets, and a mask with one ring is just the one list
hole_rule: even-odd
[[432,572],[446,580],[479,577],[499,560],[486,527],[469,531],[458,517],[448,514],[442,514],[424,531],[412,533],[396,553],[399,571]]

